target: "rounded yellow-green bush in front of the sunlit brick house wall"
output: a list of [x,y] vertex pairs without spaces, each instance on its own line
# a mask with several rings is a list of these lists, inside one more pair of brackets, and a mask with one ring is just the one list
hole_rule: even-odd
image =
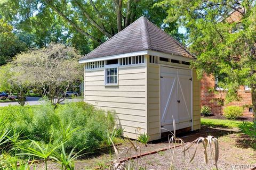
[[223,116],[225,116],[227,119],[229,120],[236,120],[238,119],[240,116],[243,115],[243,107],[239,107],[239,106],[227,106],[224,109],[224,113]]

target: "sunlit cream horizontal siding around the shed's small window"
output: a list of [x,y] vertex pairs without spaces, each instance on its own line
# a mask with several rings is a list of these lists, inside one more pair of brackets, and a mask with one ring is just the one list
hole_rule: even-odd
[[104,69],[85,70],[84,100],[105,112],[116,113],[116,125],[124,136],[136,139],[135,129],[147,130],[146,67],[118,67],[118,86],[105,86]]

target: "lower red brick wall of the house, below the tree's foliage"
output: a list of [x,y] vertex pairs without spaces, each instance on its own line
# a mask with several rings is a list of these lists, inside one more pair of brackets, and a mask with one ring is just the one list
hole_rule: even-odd
[[[251,93],[250,91],[245,91],[244,87],[241,86],[238,91],[238,95],[240,95],[243,99],[241,101],[233,101],[229,104],[225,104],[224,106],[218,105],[218,101],[214,100],[216,98],[226,97],[225,91],[219,91],[219,94],[215,94],[214,92],[209,92],[210,88],[213,88],[215,85],[214,78],[212,76],[208,77],[204,75],[201,80],[201,107],[209,106],[211,108],[212,114],[223,114],[223,109],[227,106],[244,106],[245,104],[250,105],[252,103]],[[244,108],[244,116],[252,117],[252,113],[249,112],[249,108]]]

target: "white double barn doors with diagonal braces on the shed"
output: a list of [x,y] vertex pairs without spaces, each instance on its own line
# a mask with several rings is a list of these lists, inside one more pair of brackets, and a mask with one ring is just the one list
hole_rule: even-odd
[[[191,71],[161,67],[161,126],[173,130],[191,126]],[[162,129],[162,132],[166,130]]]

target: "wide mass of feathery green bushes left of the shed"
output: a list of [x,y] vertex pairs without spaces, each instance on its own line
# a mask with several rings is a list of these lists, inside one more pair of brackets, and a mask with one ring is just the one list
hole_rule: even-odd
[[1,107],[0,116],[6,120],[4,128],[10,129],[10,134],[20,132],[22,140],[63,141],[67,129],[76,129],[65,143],[66,149],[75,147],[76,151],[98,148],[107,139],[107,129],[114,128],[113,114],[99,111],[83,101],[59,105],[56,109],[50,103]]

